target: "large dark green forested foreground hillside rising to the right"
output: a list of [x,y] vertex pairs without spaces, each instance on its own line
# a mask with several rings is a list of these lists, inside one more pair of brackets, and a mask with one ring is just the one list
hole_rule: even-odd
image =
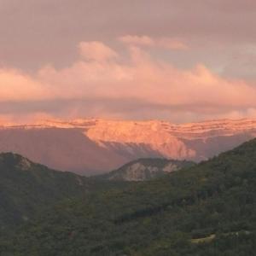
[[147,183],[62,201],[8,255],[247,256],[256,250],[256,140]]

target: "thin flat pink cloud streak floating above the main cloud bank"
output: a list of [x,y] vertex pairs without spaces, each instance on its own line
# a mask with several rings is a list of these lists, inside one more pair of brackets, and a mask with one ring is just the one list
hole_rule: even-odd
[[159,47],[165,49],[184,50],[189,49],[189,46],[178,38],[150,38],[148,36],[131,36],[126,35],[119,38],[119,41],[124,44],[132,44],[137,46]]

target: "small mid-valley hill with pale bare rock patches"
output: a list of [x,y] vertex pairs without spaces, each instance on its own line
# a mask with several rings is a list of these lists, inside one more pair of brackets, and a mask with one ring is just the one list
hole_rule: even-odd
[[131,161],[100,177],[114,181],[146,181],[193,165],[195,163],[186,160],[144,158]]

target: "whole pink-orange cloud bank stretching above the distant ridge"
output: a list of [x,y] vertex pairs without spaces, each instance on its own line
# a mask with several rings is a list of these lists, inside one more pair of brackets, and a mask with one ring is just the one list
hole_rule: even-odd
[[183,70],[136,45],[128,46],[128,60],[101,42],[83,42],[79,49],[81,59],[70,67],[49,65],[32,75],[0,70],[0,113],[11,114],[13,106],[12,113],[24,116],[177,122],[255,115],[255,84],[222,78],[203,64]]

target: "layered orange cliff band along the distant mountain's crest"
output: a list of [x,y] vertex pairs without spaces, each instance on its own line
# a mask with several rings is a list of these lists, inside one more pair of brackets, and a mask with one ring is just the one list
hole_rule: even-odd
[[[1,123],[1,129],[10,128],[23,128],[23,129],[44,129],[44,128],[81,128],[85,131],[96,132],[98,131],[98,140],[107,140],[107,135],[110,131],[113,131],[113,126],[119,129],[119,132],[115,134],[122,134],[125,131],[134,130],[134,127],[148,128],[152,131],[168,131],[173,136],[186,137],[186,138],[201,138],[201,137],[213,137],[214,132],[221,132],[222,135],[233,135],[234,132],[241,131],[254,131],[256,132],[256,119],[213,119],[195,123],[187,124],[172,124],[171,122],[152,119],[152,120],[120,120],[120,119],[73,119],[73,120],[61,120],[61,119],[45,119],[37,121],[34,124],[16,125],[10,123]],[[107,131],[103,137],[102,131]],[[114,131],[115,131],[114,130]],[[101,133],[100,133],[101,131]],[[219,135],[219,133],[218,133]],[[112,137],[113,140],[113,137]]]

